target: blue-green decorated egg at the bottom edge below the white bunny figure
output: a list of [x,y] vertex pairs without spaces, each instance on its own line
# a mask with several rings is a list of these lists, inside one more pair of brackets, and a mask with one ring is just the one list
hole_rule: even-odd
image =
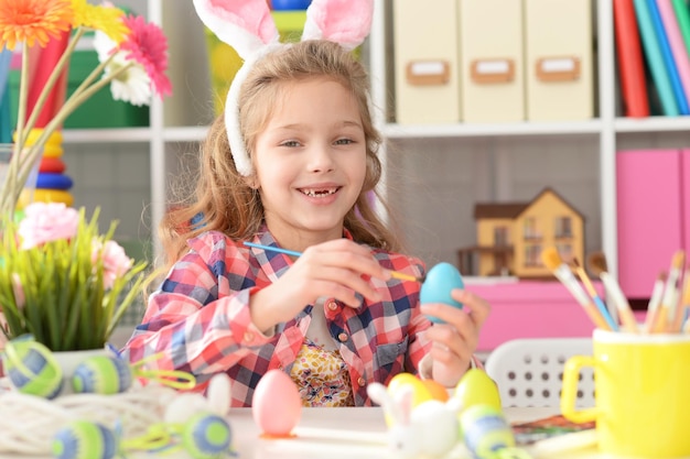
[[182,433],[185,451],[194,459],[225,457],[233,440],[230,425],[212,413],[197,413],[186,422]]

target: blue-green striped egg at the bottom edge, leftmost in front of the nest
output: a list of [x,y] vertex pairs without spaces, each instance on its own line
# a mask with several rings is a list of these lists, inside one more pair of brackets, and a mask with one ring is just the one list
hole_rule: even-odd
[[53,437],[56,459],[110,459],[117,452],[112,430],[99,423],[73,420]]

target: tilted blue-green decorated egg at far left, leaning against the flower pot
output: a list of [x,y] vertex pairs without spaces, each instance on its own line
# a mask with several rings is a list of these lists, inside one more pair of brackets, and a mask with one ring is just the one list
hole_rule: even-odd
[[24,394],[54,398],[63,386],[63,371],[40,342],[15,339],[6,345],[4,372],[12,386]]

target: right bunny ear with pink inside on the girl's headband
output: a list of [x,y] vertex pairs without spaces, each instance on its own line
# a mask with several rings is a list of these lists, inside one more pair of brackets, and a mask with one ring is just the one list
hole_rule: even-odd
[[374,0],[312,0],[302,40],[327,40],[353,50],[371,29]]

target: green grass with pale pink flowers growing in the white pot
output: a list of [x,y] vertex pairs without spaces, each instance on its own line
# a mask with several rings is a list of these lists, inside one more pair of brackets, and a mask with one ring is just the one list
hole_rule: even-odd
[[141,294],[145,262],[134,263],[101,234],[98,209],[34,203],[10,221],[0,245],[0,309],[8,339],[30,334],[52,351],[103,349]]

